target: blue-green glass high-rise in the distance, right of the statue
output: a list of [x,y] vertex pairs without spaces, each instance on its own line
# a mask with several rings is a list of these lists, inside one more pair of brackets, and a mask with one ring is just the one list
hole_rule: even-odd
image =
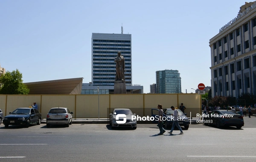
[[181,78],[178,70],[156,72],[156,93],[181,93]]

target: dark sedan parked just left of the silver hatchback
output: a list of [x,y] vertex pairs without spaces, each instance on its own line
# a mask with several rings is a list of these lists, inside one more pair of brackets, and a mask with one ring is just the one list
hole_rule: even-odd
[[10,115],[5,116],[3,119],[3,124],[7,128],[9,125],[25,125],[29,127],[30,124],[41,124],[42,114],[34,108],[17,108]]

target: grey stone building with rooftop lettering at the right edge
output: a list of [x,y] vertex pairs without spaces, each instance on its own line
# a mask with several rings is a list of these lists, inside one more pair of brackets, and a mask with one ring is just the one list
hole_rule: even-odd
[[256,1],[241,6],[209,46],[212,97],[256,94]]

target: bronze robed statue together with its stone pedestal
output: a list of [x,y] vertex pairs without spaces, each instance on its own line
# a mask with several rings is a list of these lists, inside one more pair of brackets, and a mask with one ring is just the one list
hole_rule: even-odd
[[125,58],[121,52],[117,53],[118,56],[114,59],[116,62],[116,78],[114,83],[114,94],[126,94],[125,85]]

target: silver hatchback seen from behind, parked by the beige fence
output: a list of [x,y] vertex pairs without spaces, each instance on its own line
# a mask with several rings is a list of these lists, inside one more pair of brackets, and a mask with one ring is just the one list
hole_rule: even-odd
[[50,124],[65,124],[69,127],[72,124],[72,115],[68,108],[65,107],[54,107],[51,108],[46,118],[46,126],[50,127]]

